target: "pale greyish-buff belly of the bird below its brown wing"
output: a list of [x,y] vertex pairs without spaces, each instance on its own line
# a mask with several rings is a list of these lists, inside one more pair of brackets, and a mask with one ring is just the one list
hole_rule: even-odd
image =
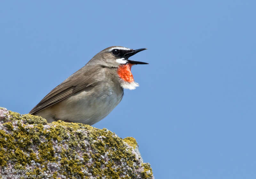
[[116,91],[107,85],[92,87],[53,105],[55,119],[92,125],[106,117],[119,104],[123,91]]

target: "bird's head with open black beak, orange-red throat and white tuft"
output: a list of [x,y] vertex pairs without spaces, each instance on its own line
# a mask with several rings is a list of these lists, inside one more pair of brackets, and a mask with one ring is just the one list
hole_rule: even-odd
[[117,74],[123,88],[135,89],[139,84],[134,82],[131,67],[148,63],[133,61],[129,57],[143,50],[146,50],[146,48],[133,50],[121,46],[112,46],[100,51],[94,58],[98,59],[97,61],[100,61],[103,66],[117,68]]

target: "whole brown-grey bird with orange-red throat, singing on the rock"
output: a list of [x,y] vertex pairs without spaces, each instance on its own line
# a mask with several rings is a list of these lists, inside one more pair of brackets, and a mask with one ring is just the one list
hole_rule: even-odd
[[147,48],[133,50],[121,46],[108,47],[52,89],[29,114],[53,121],[93,125],[105,118],[120,103],[124,89],[139,86],[131,67],[148,64],[128,59]]

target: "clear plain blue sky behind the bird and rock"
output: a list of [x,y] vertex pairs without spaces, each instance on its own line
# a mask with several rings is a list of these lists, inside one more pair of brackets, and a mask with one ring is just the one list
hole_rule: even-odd
[[140,87],[94,125],[132,136],[156,178],[256,178],[255,1],[1,1],[0,106],[28,113],[108,46]]

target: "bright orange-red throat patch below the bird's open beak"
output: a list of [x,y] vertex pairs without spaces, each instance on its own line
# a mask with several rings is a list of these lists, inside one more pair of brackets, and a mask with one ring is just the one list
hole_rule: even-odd
[[122,64],[117,69],[117,74],[120,78],[122,78],[125,82],[133,82],[133,75],[131,72],[133,64],[127,63]]

